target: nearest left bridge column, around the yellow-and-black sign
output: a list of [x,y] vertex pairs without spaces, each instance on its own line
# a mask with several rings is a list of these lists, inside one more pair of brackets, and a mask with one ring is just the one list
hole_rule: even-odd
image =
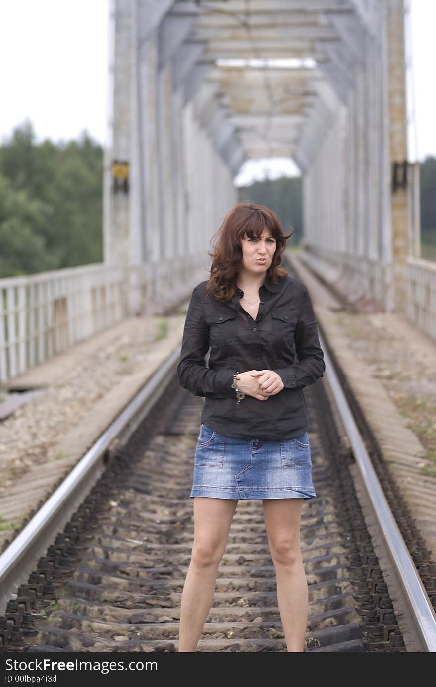
[[[157,30],[172,0],[111,0],[104,262],[159,260]],[[113,162],[128,164],[128,192],[114,191]]]

